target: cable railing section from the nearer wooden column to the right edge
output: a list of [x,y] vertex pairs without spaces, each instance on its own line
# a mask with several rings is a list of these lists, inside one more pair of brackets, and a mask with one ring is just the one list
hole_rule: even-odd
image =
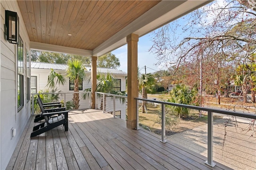
[[[157,103],[160,105],[160,114],[161,114],[161,140],[160,142],[167,142],[166,140],[166,105],[176,106],[176,107],[183,107],[188,109],[194,109],[198,111],[204,111],[207,115],[207,123],[202,124],[198,127],[191,128],[190,130],[186,130],[183,132],[183,136],[173,135],[175,139],[169,137],[170,140],[176,140],[177,144],[183,144],[184,146],[190,147],[192,150],[196,151],[198,148],[198,152],[202,153],[205,149],[207,152],[204,156],[207,157],[205,164],[214,167],[215,163],[213,161],[213,154],[214,158],[219,161],[221,157],[223,157],[223,152],[225,154],[229,154],[228,157],[228,164],[236,164],[235,168],[241,168],[240,166],[248,168],[255,168],[256,165],[256,142],[255,138],[251,138],[248,141],[248,138],[252,137],[252,133],[254,131],[250,131],[251,129],[248,128],[250,122],[254,122],[253,120],[256,119],[255,114],[250,113],[239,113],[234,111],[226,111],[220,109],[212,109],[206,107],[198,107],[192,105],[182,105],[177,103],[169,103],[164,101],[156,101],[150,99],[142,99],[142,98],[134,98],[137,102],[137,108],[140,109],[139,101],[147,101],[152,103]],[[155,105],[156,106],[156,105]],[[137,109],[137,129],[139,129],[139,111]],[[145,113],[145,115],[150,115],[149,113]],[[216,116],[222,115],[225,119],[216,119]],[[214,119],[215,117],[215,119]],[[246,121],[246,124],[240,125],[240,130],[244,132],[244,134],[238,133],[238,128],[236,123],[238,122],[238,117],[241,117],[240,120]],[[246,118],[246,119],[242,119]],[[240,122],[241,124],[242,122]],[[214,130],[213,130],[214,129]],[[250,131],[250,132],[249,132]],[[189,134],[190,133],[190,134]],[[206,134],[207,133],[207,134]],[[243,138],[243,139],[242,139]],[[196,141],[196,142],[193,142]],[[217,144],[216,144],[217,143]],[[239,144],[240,143],[240,144]],[[243,144],[242,143],[246,143]],[[225,144],[227,145],[226,148]],[[236,147],[236,148],[232,148]],[[200,150],[200,148],[202,150]],[[214,148],[214,150],[213,150]],[[233,152],[238,152],[238,154],[234,154]],[[242,156],[243,155],[243,156]],[[246,156],[245,156],[246,155]],[[234,157],[234,158],[233,158]],[[246,157],[246,158],[244,158]],[[243,160],[243,161],[240,161]],[[233,161],[233,162],[232,162]],[[251,166],[245,166],[247,161],[248,164]],[[232,163],[231,163],[232,162]],[[235,162],[235,163],[234,163]],[[224,162],[225,163],[225,162]]]

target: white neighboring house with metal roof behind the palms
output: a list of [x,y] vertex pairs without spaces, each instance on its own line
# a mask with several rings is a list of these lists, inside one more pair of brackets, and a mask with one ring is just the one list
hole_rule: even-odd
[[[56,64],[56,63],[40,63],[40,62],[31,62],[31,93],[38,93],[40,90],[47,89],[47,79],[51,69],[54,69],[57,73],[61,73],[62,75],[66,75],[66,68],[67,65],[65,64]],[[86,79],[81,83],[79,91],[84,91],[85,89],[91,88],[91,67],[86,67]],[[97,73],[99,74],[106,74],[112,73],[113,77],[119,82],[116,83],[115,90],[116,91],[125,91],[126,90],[126,76],[127,73],[124,71],[120,71],[117,69],[109,69],[109,68],[97,68]],[[73,92],[74,91],[74,84],[69,81],[68,77],[66,77],[66,84],[65,85],[58,85],[58,91],[62,92]],[[66,101],[72,100],[73,94],[66,94]],[[90,108],[89,99],[82,99],[80,95],[80,107],[79,109]],[[63,96],[62,96],[63,97]],[[110,100],[109,98],[107,98]],[[98,101],[98,100],[97,100]],[[100,105],[100,103],[97,103]],[[120,105],[120,109],[116,110],[117,115],[120,115],[122,119],[125,119],[125,104],[124,106],[119,100],[116,101],[116,105]],[[99,108],[99,106],[98,106]],[[112,105],[108,106],[110,111],[113,111]]]

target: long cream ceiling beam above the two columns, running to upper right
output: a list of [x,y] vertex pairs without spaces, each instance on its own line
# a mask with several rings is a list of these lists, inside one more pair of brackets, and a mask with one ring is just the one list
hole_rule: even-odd
[[161,1],[106,42],[96,47],[92,52],[93,56],[99,57],[126,44],[126,36],[129,34],[134,33],[139,37],[144,36],[209,2],[212,2],[212,0]]

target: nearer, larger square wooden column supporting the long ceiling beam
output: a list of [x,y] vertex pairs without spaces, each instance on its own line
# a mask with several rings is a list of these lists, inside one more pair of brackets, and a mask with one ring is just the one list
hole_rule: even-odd
[[127,87],[127,121],[126,127],[136,128],[136,100],[138,97],[138,41],[139,36],[130,34],[126,37],[128,44],[128,87]]

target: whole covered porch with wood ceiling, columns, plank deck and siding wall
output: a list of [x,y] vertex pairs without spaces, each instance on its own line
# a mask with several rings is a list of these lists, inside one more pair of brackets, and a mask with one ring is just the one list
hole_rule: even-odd
[[[166,147],[152,134],[132,130],[137,122],[135,98],[138,90],[132,87],[137,87],[139,38],[209,2],[211,0],[1,0],[0,169],[139,169],[137,165],[144,169],[209,168],[204,165],[204,157],[193,156],[178,146],[174,154],[171,144]],[[4,36],[6,10],[17,12],[20,18],[16,35],[22,42],[20,46],[9,43]],[[128,44],[126,122],[113,121],[106,115],[99,116],[104,120],[98,120],[96,112],[70,113],[68,132],[58,127],[45,135],[30,138],[34,127],[29,88],[32,49],[90,56],[91,107],[94,109],[97,57],[125,44]],[[22,51],[19,56],[18,47]]]

